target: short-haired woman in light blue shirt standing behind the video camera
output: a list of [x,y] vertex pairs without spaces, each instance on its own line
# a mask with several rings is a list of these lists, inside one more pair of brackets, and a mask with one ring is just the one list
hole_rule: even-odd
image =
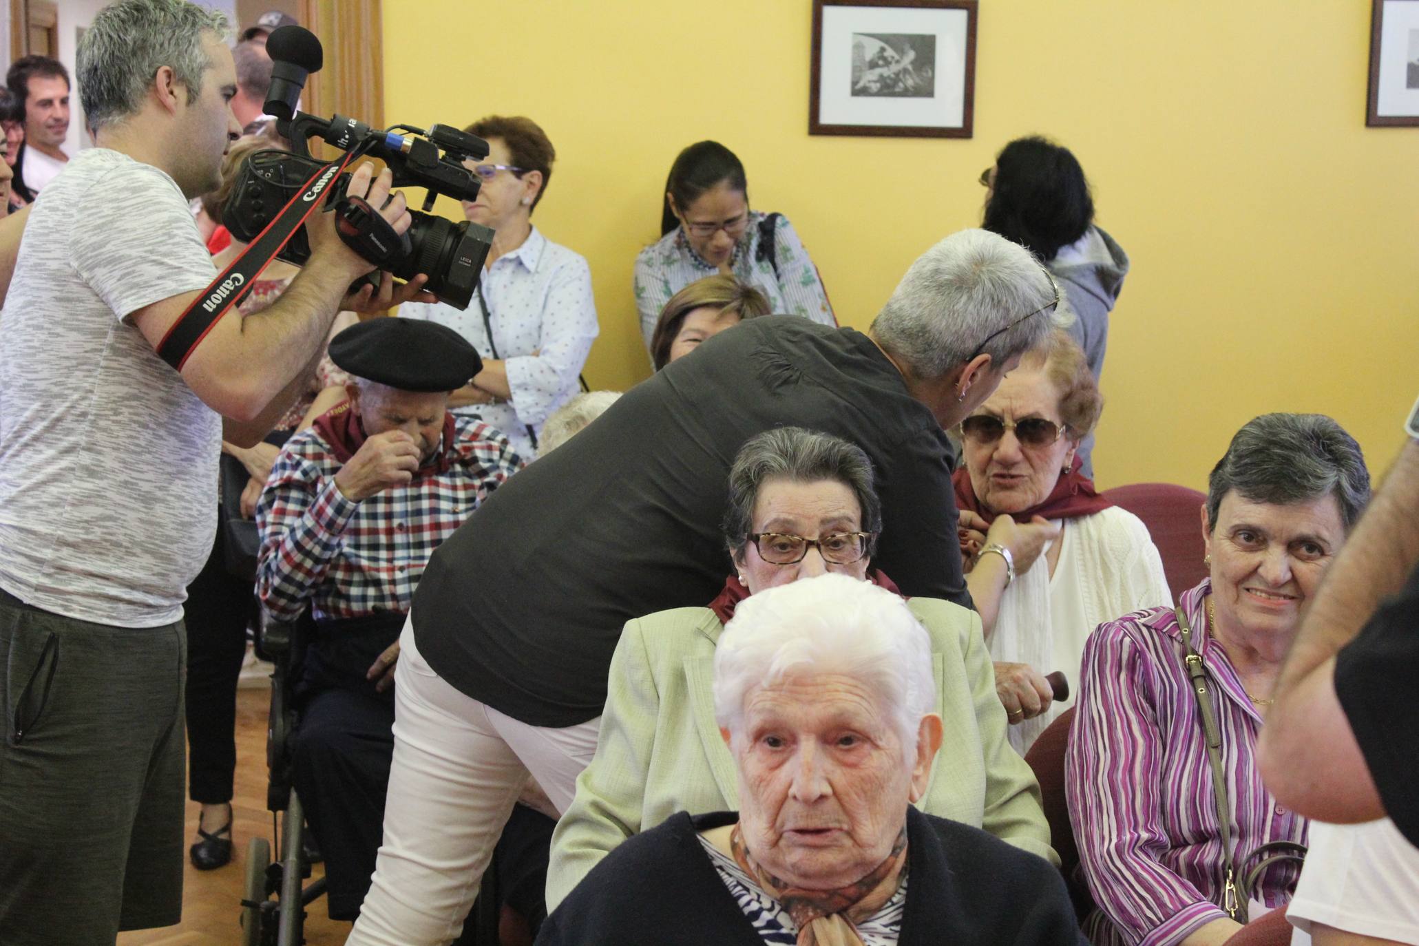
[[492,115],[464,130],[488,142],[487,157],[465,162],[481,183],[478,199],[463,201],[468,220],[497,231],[482,281],[467,309],[438,302],[399,315],[447,325],[478,349],[482,370],[448,408],[498,428],[532,460],[542,421],[576,394],[599,330],[592,271],[532,226],[556,157],[536,122]]

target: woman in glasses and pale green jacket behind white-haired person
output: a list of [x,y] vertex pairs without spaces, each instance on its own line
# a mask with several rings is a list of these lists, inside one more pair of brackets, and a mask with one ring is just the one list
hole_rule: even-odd
[[[626,625],[612,658],[596,756],[552,840],[548,909],[630,835],[677,811],[738,810],[736,776],[714,720],[715,642],[735,606],[824,572],[897,587],[871,569],[881,529],[873,467],[837,437],[780,427],[748,440],[729,469],[725,543],[735,573],[708,607]],[[966,608],[914,597],[931,635],[937,712],[946,726],[920,808],[982,827],[1054,859],[1034,779],[1006,743],[979,621]]]

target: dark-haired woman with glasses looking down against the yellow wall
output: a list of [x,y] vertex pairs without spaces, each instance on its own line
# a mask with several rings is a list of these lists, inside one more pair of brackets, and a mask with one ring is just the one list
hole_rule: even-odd
[[636,308],[647,349],[670,296],[717,272],[756,286],[773,312],[836,325],[793,224],[779,213],[749,210],[744,165],[719,142],[698,142],[675,157],[660,233],[636,257]]

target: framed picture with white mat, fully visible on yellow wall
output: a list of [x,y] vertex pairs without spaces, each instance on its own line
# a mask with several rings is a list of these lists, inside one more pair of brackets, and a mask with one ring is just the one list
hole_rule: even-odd
[[813,0],[807,133],[971,138],[975,24],[976,0]]

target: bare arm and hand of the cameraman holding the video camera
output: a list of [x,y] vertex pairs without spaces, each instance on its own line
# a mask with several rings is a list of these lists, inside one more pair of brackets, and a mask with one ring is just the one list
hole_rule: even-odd
[[[360,165],[348,193],[366,197],[375,207],[383,206],[383,217],[403,233],[412,220],[403,194],[396,193],[386,204],[392,180],[389,170],[380,172],[373,184],[370,176],[370,166]],[[277,408],[284,410],[285,406],[277,401],[299,383],[298,379],[304,379],[304,372],[324,347],[331,321],[339,312],[350,282],[373,269],[335,233],[333,213],[314,214],[305,227],[311,237],[311,258],[291,286],[255,315],[243,318],[227,312],[193,349],[182,369],[183,380],[203,403],[236,421],[224,430],[224,437],[238,445],[248,447],[260,440],[264,431],[255,428]],[[387,302],[417,294],[423,282],[416,277],[392,294]],[[363,292],[365,299],[345,299],[346,306],[368,305],[368,291]],[[197,291],[162,299],[132,312],[131,318],[156,350],[200,295],[201,291]]]

